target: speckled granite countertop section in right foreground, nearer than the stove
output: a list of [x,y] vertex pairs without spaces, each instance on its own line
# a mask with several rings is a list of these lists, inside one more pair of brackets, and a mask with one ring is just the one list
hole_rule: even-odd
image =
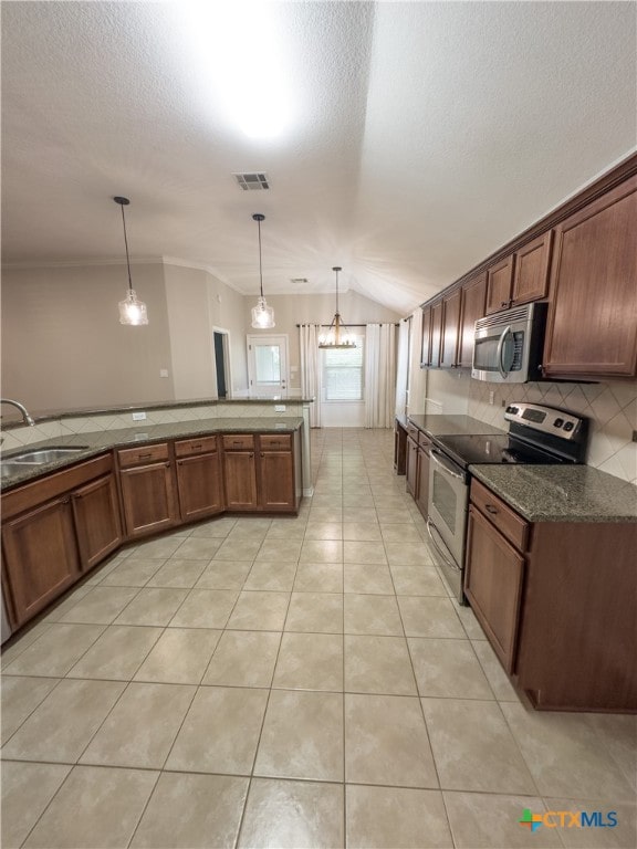
[[470,465],[530,522],[637,522],[637,486],[589,465]]

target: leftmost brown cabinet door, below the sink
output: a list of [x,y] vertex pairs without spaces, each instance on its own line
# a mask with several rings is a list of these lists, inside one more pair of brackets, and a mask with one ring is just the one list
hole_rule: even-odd
[[49,501],[6,522],[2,549],[12,625],[18,628],[80,575],[70,496]]

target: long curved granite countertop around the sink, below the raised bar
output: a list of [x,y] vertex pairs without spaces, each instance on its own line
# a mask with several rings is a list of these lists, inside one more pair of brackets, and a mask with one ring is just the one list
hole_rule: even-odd
[[52,463],[41,463],[39,465],[25,465],[20,471],[3,478],[0,481],[0,491],[4,492],[20,483],[40,478],[50,472],[56,472],[65,467],[73,465],[83,460],[103,453],[112,448],[130,447],[134,443],[161,442],[166,439],[180,439],[187,437],[198,437],[203,433],[292,433],[299,430],[303,424],[300,417],[290,417],[276,420],[273,417],[241,417],[227,419],[197,419],[196,421],[176,421],[168,424],[153,424],[139,428],[118,428],[115,430],[100,430],[90,433],[73,433],[67,437],[55,437],[53,439],[32,442],[29,446],[3,453],[3,460],[11,460],[11,457],[31,449],[45,448],[80,448],[82,450],[73,452],[66,458],[55,460]]

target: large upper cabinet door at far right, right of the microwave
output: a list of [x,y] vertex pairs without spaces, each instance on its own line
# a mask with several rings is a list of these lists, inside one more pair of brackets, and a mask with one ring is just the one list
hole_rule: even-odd
[[637,177],[555,228],[546,376],[637,374]]

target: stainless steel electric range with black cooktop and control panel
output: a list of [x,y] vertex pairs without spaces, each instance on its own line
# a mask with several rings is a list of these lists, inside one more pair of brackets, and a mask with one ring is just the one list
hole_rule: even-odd
[[460,604],[470,470],[483,463],[583,463],[588,421],[572,412],[537,403],[511,403],[502,436],[436,436],[429,464],[427,531],[436,559]]

